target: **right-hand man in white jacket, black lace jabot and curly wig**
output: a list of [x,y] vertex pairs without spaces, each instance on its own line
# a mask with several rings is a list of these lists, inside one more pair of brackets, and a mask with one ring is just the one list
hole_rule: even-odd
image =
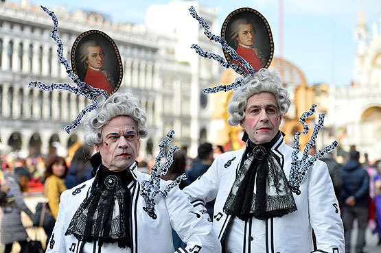
[[307,173],[297,174],[303,179],[299,188],[288,183],[294,149],[284,142],[279,125],[289,106],[275,71],[245,77],[229,102],[228,123],[244,128],[246,147],[218,156],[183,190],[198,208],[216,199],[213,229],[224,252],[345,252],[325,163],[317,160]]

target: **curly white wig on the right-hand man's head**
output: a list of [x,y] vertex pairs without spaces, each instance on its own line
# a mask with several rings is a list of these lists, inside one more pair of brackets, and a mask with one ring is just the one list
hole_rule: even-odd
[[234,91],[227,106],[227,112],[231,115],[227,123],[231,126],[238,125],[245,117],[244,110],[246,109],[247,99],[264,91],[275,95],[280,114],[286,114],[291,101],[287,89],[283,88],[281,84],[281,77],[272,69],[260,69],[253,76],[248,75],[245,77],[244,86]]

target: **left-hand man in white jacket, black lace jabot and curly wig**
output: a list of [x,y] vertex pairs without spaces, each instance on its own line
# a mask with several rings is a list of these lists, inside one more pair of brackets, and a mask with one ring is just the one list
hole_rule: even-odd
[[[154,197],[153,209],[146,205],[143,189],[150,176],[137,171],[135,161],[139,138],[148,136],[146,119],[131,94],[100,96],[84,136],[97,151],[90,158],[95,177],[62,193],[48,253],[175,252],[172,228],[187,243],[176,252],[221,252],[211,223],[178,186]],[[161,180],[160,188],[168,184]]]

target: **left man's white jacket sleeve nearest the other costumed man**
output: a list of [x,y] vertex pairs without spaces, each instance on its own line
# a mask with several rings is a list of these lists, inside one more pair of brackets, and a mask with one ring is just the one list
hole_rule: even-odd
[[221,244],[211,222],[189,204],[187,197],[178,189],[178,186],[174,187],[164,200],[172,228],[181,240],[187,243],[186,248],[179,248],[176,252],[221,252]]

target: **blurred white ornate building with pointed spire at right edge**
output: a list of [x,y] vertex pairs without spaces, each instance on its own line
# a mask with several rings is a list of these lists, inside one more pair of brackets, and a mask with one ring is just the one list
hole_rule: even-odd
[[340,147],[356,148],[369,160],[381,158],[381,19],[367,27],[360,8],[354,30],[354,82],[330,87],[330,125]]

